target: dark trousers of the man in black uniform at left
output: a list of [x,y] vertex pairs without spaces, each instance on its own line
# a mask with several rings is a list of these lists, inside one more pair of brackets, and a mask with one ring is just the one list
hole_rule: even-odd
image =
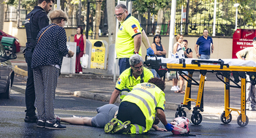
[[35,112],[36,108],[34,107],[34,101],[36,99],[35,93],[34,93],[34,77],[33,77],[33,70],[31,69],[32,55],[33,53],[30,50],[26,50],[25,59],[26,59],[26,64],[28,64],[28,79],[26,80],[26,91],[25,91],[26,116],[36,115],[36,112]]

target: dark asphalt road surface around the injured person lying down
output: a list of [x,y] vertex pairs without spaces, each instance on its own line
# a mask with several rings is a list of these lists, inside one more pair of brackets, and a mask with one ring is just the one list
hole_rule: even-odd
[[[71,81],[71,80],[70,80]],[[90,126],[75,126],[64,124],[67,130],[49,130],[36,127],[35,123],[24,123],[25,101],[24,88],[20,85],[26,84],[22,77],[15,77],[14,88],[11,99],[0,99],[0,137],[180,137],[173,136],[171,132],[159,132],[151,130],[145,135],[121,135],[105,134],[103,129]],[[69,93],[62,93],[64,90],[58,88],[55,100],[55,113],[61,117],[88,116],[97,114],[96,107],[108,104],[107,101],[96,101],[72,96]],[[67,91],[67,90],[65,90]],[[167,121],[174,118],[175,111],[165,110]],[[188,116],[191,112],[188,112]],[[164,127],[162,123],[159,127]],[[255,137],[256,121],[249,120],[249,124],[241,128],[233,118],[231,123],[223,125],[219,115],[203,113],[203,122],[195,126],[191,124],[189,129],[196,137]]]

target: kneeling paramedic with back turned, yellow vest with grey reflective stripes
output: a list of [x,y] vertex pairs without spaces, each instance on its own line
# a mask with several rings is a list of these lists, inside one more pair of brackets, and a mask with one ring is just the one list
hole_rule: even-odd
[[165,82],[152,78],[148,83],[140,83],[124,97],[119,105],[118,120],[129,120],[131,124],[149,131],[156,118],[156,113],[167,131],[173,131],[173,126],[165,118]]

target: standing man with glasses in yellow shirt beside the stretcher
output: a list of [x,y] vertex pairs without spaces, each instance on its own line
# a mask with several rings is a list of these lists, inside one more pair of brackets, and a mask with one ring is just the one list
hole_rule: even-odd
[[141,28],[139,21],[128,13],[124,4],[118,4],[115,8],[115,16],[121,23],[116,37],[116,56],[119,58],[119,74],[128,69],[129,57],[133,54],[141,55],[141,42],[147,49],[147,55],[154,55],[151,49],[148,37]]

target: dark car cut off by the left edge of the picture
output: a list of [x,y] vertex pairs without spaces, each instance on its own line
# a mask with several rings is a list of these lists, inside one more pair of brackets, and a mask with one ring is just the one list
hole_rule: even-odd
[[15,53],[7,55],[5,51],[4,46],[0,42],[0,98],[10,99],[14,71],[9,60],[17,58],[17,55]]

